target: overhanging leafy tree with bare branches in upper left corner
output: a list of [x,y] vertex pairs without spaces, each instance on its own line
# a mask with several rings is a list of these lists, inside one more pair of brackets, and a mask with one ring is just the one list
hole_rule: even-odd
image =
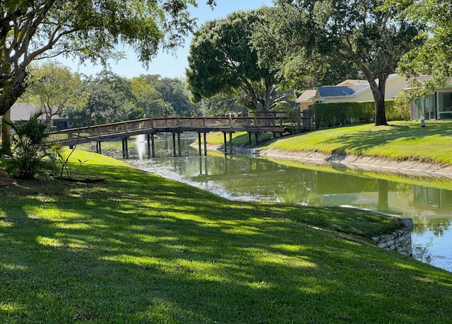
[[[207,0],[213,5],[214,0]],[[0,116],[25,92],[26,68],[61,54],[106,64],[127,44],[143,64],[195,26],[195,0],[3,0],[0,2]]]

